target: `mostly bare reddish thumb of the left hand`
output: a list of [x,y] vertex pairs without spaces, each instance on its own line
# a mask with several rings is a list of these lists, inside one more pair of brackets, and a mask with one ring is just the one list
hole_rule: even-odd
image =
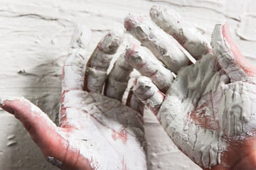
[[45,157],[54,157],[63,162],[65,164],[63,169],[92,169],[88,160],[78,154],[78,150],[72,152],[67,148],[63,148],[63,143],[68,145],[68,141],[64,140],[56,132],[56,129],[68,132],[70,128],[56,127],[53,122],[49,121],[50,119],[38,116],[37,113],[29,112],[30,106],[21,101],[4,101],[4,106],[1,106],[1,108],[14,114],[15,118],[21,121]]

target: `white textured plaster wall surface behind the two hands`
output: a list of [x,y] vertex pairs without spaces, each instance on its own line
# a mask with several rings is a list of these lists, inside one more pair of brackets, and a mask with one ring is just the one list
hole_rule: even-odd
[[[89,54],[107,30],[124,30],[128,13],[148,15],[154,4],[175,8],[209,41],[215,23],[228,21],[242,54],[256,65],[254,0],[0,0],[0,96],[24,96],[58,124],[61,69],[75,26],[92,29]],[[126,33],[116,56],[131,42],[137,40]],[[146,111],[144,122],[149,169],[200,169],[174,146],[152,113]],[[55,169],[21,123],[2,110],[0,169]]]

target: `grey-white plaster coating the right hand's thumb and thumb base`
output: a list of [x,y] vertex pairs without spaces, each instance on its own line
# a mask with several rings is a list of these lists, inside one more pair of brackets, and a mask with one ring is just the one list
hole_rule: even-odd
[[218,57],[219,63],[228,77],[231,84],[228,91],[221,99],[219,109],[220,127],[229,135],[240,135],[245,130],[252,113],[252,103],[248,93],[246,81],[255,81],[254,77],[248,77],[245,71],[235,59],[228,41],[223,35],[225,23],[218,23],[213,30],[212,46],[213,53]]

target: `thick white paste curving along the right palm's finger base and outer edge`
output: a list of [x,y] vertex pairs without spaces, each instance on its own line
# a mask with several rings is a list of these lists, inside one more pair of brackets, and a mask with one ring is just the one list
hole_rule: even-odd
[[207,86],[213,86],[215,81],[218,81],[218,79],[210,81],[216,72],[218,65],[211,54],[204,56],[195,65],[182,68],[167,91],[157,115],[177,147],[181,148],[191,160],[205,168],[214,166],[217,162],[220,164],[220,154],[226,147],[223,133],[201,128],[195,125],[193,120],[189,119],[186,122],[184,119],[189,111],[193,111],[193,106],[204,91],[207,91]]

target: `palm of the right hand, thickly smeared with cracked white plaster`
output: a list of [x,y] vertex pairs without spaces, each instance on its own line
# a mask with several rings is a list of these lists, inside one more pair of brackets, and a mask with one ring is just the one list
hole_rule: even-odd
[[205,56],[178,72],[159,111],[159,120],[176,145],[206,169],[220,157],[221,166],[215,169],[232,169],[245,157],[255,156],[248,145],[255,142],[255,84],[231,81],[213,55]]

